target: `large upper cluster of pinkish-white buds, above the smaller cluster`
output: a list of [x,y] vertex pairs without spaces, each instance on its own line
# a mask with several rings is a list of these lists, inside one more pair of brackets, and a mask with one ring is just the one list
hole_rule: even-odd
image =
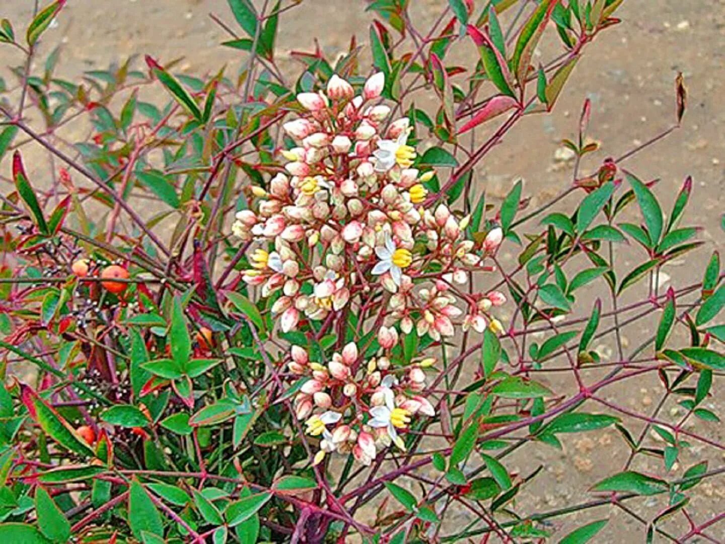
[[[334,75],[326,93],[299,94],[306,112],[283,126],[298,144],[282,152],[286,171],[270,181],[269,191],[254,187],[254,209],[236,214],[233,233],[260,243],[243,279],[261,286],[263,297],[281,290],[272,310],[283,331],[297,328],[303,316],[322,320],[355,295],[384,287],[394,294],[388,310],[402,331],[417,321],[420,335],[450,336],[451,319],[462,312],[447,292],[465,284],[469,271],[491,269],[479,253],[496,249],[500,228],[476,247],[465,238],[468,217],[444,204],[426,207],[432,201],[424,184],[434,172],[412,168],[408,118],[386,123],[390,108],[373,104],[383,88],[378,73],[355,96]],[[420,279],[436,287],[414,293]],[[489,299],[466,300],[466,326],[482,330]]]

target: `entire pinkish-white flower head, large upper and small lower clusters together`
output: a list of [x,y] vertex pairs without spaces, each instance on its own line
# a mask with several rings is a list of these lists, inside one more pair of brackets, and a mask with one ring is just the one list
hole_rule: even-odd
[[457,326],[502,331],[489,310],[504,295],[460,289],[472,273],[492,270],[484,260],[502,230],[474,242],[466,236],[470,218],[428,194],[434,171],[413,168],[409,120],[388,120],[390,108],[379,103],[384,83],[382,73],[373,75],[355,96],[334,75],[326,92],[299,94],[305,111],[283,125],[294,141],[281,152],[284,171],[268,190],[252,188],[252,209],[237,213],[233,225],[252,244],[242,278],[275,297],[271,310],[283,332],[309,330],[305,320],[334,313],[340,322],[349,313],[369,324],[377,316],[384,355],[365,364],[354,342],[326,364],[311,362],[302,348],[291,352],[290,370],[310,376],[295,409],[307,433],[322,437],[318,461],[338,451],[370,463],[376,450],[403,447],[397,429],[411,417],[434,415],[421,394],[422,368],[433,360],[403,365],[392,357],[400,335],[438,342]]

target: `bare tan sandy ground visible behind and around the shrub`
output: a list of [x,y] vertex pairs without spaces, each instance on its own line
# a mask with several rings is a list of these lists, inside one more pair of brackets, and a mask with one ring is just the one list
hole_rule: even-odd
[[[425,22],[436,17],[444,2],[416,0],[412,4]],[[593,104],[590,133],[602,142],[601,151],[588,162],[588,167],[594,168],[603,157],[618,156],[672,123],[673,81],[682,71],[690,93],[682,128],[637,154],[626,166],[640,178],[660,178],[657,193],[666,210],[684,178],[694,178],[689,218],[705,227],[702,239],[711,245],[709,250],[666,270],[673,284],[690,284],[700,280],[710,251],[723,248],[719,223],[725,209],[725,0],[627,0],[624,4],[618,13],[624,23],[589,46],[553,115],[529,118],[518,125],[508,136],[508,143],[489,154],[479,168],[478,179],[493,199],[504,196],[518,177],[526,181],[525,191],[534,204],[552,197],[571,181],[570,165],[561,160],[558,149],[562,138],[574,135],[585,97]],[[5,0],[0,17],[18,23],[26,21],[32,5],[30,0]],[[347,47],[352,35],[365,43],[370,14],[364,11],[364,5],[351,0],[307,0],[283,17],[279,38],[283,70],[294,73],[297,69],[287,51],[311,49],[315,36],[332,56]],[[210,12],[233,22],[224,0],[73,0],[62,20],[49,30],[43,47],[48,51],[51,45],[62,44],[59,72],[73,80],[84,70],[107,67],[132,54],[148,53],[165,62],[183,57],[178,66],[189,74],[215,73],[222,65],[239,66],[237,51],[218,46],[227,36],[210,19]],[[468,51],[470,54],[473,49],[469,47]],[[466,54],[460,55],[465,58]],[[17,65],[19,60],[14,51],[0,49],[0,73],[7,76],[5,68]],[[470,57],[468,60],[471,65]],[[4,172],[7,165],[1,168]],[[618,265],[631,268],[636,260],[642,260],[635,251],[622,250]],[[637,339],[645,338],[651,326],[643,323],[626,330],[627,342],[637,345]],[[605,344],[613,346],[611,339]],[[625,390],[614,392],[612,398],[632,409],[651,411],[661,392],[661,385],[653,380],[630,383]],[[710,403],[712,408],[722,410],[725,397],[720,393]],[[663,413],[674,417],[674,410],[675,406],[668,404]],[[718,440],[724,438],[721,426],[698,429]],[[584,500],[592,483],[616,471],[626,460],[621,438],[614,431],[575,435],[564,443],[563,452],[539,449],[532,455],[533,450],[527,450],[508,461],[508,466],[523,474],[544,465],[543,474],[522,499],[525,508],[549,510]],[[684,455],[679,471],[699,461],[704,451],[696,444]],[[711,453],[707,458],[711,458],[711,468],[724,462],[721,456],[713,457]],[[657,460],[635,463],[635,468],[658,474],[663,471]],[[724,509],[723,482],[713,479],[700,486],[690,504],[697,521],[703,522]],[[651,516],[661,506],[660,500],[652,500],[635,510]],[[557,535],[564,535],[587,519],[609,514],[612,522],[597,542],[644,541],[642,524],[616,508],[570,516],[564,522],[553,522],[551,528],[557,529]],[[466,516],[463,512],[456,515],[460,518],[449,522],[463,522]],[[679,530],[675,532],[681,533],[686,527],[681,524],[682,518],[678,522]],[[711,530],[711,535],[725,541],[725,524]]]

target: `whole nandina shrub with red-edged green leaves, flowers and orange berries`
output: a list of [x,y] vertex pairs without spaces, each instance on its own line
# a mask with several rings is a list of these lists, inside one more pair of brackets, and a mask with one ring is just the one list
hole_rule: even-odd
[[[671,128],[602,163],[584,102],[571,184],[539,207],[474,171],[621,0],[450,0],[427,29],[375,1],[368,44],[293,51],[292,79],[299,1],[229,0],[239,75],[146,57],[81,83],[33,62],[64,4],[0,23],[23,56],[0,102],[5,540],[584,543],[616,512],[648,542],[721,540],[725,514],[689,505],[724,471],[689,456],[724,448],[719,257],[664,291],[703,250],[692,181],[663,212],[624,164],[679,126],[682,78]],[[623,403],[647,376],[655,408]],[[624,466],[533,508],[532,460],[606,428]]]

